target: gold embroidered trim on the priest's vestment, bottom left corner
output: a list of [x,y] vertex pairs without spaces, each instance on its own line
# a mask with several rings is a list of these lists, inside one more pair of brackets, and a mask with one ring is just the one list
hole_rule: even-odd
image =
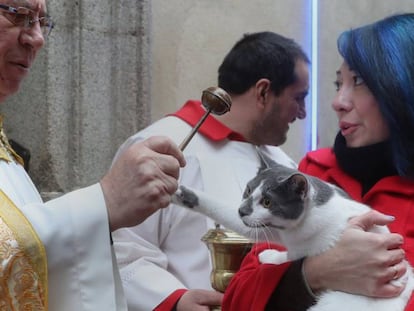
[[23,213],[0,190],[0,310],[47,309],[45,248]]

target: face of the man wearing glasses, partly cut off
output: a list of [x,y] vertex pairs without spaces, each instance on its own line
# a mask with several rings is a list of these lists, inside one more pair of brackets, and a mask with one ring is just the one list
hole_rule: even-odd
[[[27,7],[35,12],[33,18],[45,15],[45,0],[4,1],[2,4]],[[12,13],[0,9],[0,101],[15,93],[28,74],[37,52],[44,44],[38,22],[29,27],[10,21]]]

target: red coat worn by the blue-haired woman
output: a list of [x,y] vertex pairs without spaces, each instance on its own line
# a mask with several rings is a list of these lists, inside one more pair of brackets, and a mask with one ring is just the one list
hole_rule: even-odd
[[[336,162],[332,149],[310,152],[300,162],[299,170],[317,176],[344,189],[354,200],[396,217],[388,227],[392,232],[404,237],[404,250],[408,261],[414,265],[414,182],[398,176],[381,179],[364,196],[361,185],[346,175]],[[240,271],[229,284],[224,295],[223,311],[264,310],[273,290],[289,263],[280,266],[260,264],[257,254],[269,248],[268,244],[258,244],[244,259]],[[277,246],[274,246],[278,248]],[[405,309],[414,311],[414,299]],[[287,311],[287,310],[280,310]]]

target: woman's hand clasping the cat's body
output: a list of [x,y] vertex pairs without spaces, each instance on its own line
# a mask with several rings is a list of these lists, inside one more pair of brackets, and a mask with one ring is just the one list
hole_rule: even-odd
[[390,281],[407,269],[402,237],[365,231],[392,219],[378,212],[351,219],[334,247],[304,261],[305,277],[311,288],[383,298],[399,295],[404,285]]

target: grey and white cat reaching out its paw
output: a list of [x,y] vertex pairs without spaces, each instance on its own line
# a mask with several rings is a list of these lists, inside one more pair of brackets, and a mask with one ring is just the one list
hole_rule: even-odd
[[[259,254],[261,263],[271,264],[327,250],[339,239],[351,217],[370,210],[338,187],[260,156],[262,167],[248,182],[240,206],[223,204],[184,186],[179,187],[173,202],[246,237],[283,244],[287,253],[269,249]],[[389,232],[385,226],[376,226],[372,231]],[[396,298],[325,291],[308,311],[403,311],[414,289],[413,271],[408,262],[407,266],[406,274],[392,281],[406,283],[405,290]]]

